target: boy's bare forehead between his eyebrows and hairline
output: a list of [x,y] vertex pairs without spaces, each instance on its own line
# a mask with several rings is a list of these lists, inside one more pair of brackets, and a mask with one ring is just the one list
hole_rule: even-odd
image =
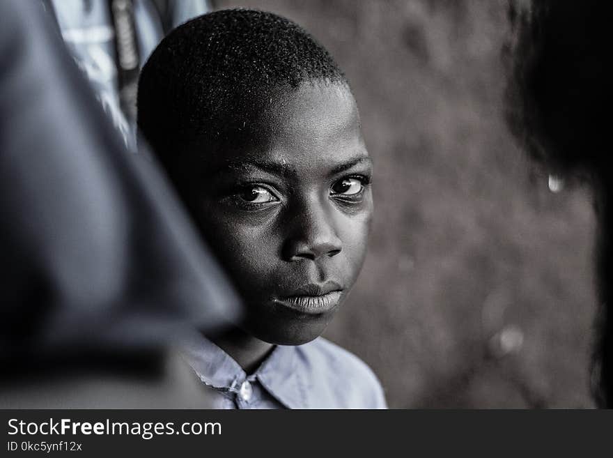
[[240,119],[207,161],[215,171],[262,165],[288,173],[296,165],[334,168],[368,156],[355,100],[344,85],[307,82]]

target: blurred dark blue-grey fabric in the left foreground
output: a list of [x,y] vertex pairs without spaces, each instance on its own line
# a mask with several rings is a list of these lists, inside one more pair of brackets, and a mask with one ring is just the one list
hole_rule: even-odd
[[38,1],[0,2],[0,208],[4,406],[37,383],[49,403],[62,392],[54,376],[164,376],[187,328],[237,319],[164,177],[127,153]]

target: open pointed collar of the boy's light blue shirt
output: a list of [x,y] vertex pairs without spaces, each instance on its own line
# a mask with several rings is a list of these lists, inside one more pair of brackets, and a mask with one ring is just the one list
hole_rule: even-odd
[[257,380],[290,409],[307,409],[304,377],[297,370],[295,346],[277,345],[260,367],[247,376],[238,362],[201,334],[183,344],[183,356],[201,381],[212,388],[235,391],[243,381]]

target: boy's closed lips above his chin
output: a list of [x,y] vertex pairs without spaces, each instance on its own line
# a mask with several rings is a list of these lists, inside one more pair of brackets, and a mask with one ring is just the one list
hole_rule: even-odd
[[324,284],[306,284],[288,296],[274,298],[275,303],[285,305],[293,310],[305,314],[321,314],[329,312],[336,305],[343,294],[343,287],[336,282]]

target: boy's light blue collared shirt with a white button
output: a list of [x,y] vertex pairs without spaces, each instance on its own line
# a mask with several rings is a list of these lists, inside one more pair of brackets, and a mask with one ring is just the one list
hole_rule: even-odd
[[216,409],[386,409],[381,385],[357,356],[318,337],[274,348],[253,374],[200,335],[183,357],[215,390]]

